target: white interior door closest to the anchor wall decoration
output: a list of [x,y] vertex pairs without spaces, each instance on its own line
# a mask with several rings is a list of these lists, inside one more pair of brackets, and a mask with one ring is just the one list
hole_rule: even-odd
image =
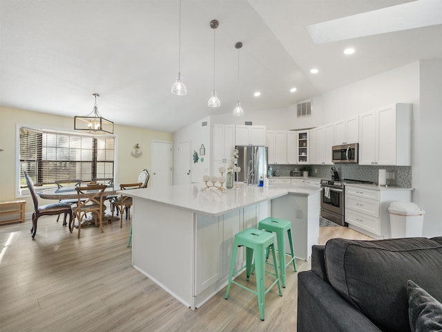
[[152,141],[151,187],[172,185],[172,143]]

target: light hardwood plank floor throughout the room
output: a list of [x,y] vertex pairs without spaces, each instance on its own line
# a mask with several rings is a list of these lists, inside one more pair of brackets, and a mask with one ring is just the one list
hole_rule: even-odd
[[[283,296],[276,286],[266,295],[264,322],[256,295],[235,285],[228,300],[224,287],[191,311],[133,268],[129,221],[123,228],[106,223],[104,233],[82,228],[77,239],[77,230],[55,220],[41,217],[34,241],[29,220],[0,227],[2,332],[296,331],[297,273],[289,268]],[[320,228],[320,243],[333,237],[369,239],[349,228]],[[298,271],[310,268],[309,261],[296,263]]]

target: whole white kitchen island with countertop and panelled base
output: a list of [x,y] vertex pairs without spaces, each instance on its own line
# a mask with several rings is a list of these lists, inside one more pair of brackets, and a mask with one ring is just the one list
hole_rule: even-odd
[[[119,191],[133,197],[133,266],[192,309],[227,284],[234,235],[271,216],[272,200],[290,195],[298,201],[297,209],[311,214],[319,227],[319,208],[308,206],[319,201],[318,188],[241,185],[219,192],[203,187]],[[242,250],[237,257],[237,268],[241,266]]]

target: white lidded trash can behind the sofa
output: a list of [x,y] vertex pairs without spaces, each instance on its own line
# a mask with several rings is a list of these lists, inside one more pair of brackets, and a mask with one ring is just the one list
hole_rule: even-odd
[[388,211],[392,238],[422,237],[425,211],[419,205],[412,202],[392,202]]

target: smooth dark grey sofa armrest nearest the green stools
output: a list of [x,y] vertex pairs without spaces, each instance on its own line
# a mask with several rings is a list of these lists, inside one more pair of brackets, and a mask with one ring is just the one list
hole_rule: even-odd
[[381,331],[313,271],[298,273],[298,332]]

